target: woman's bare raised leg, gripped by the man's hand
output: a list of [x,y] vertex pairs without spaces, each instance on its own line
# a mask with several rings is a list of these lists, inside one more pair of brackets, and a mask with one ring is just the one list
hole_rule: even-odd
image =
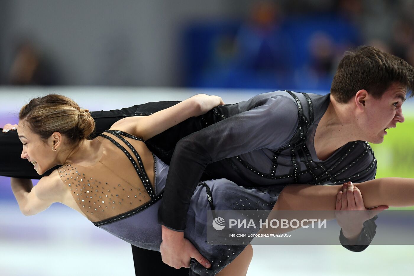
[[[291,184],[280,193],[273,210],[335,210],[336,198],[343,185],[315,186]],[[414,179],[380,178],[355,183],[366,208],[414,206]]]

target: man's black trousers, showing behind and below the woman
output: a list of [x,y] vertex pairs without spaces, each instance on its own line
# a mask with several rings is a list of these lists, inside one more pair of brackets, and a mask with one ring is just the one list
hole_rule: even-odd
[[[102,133],[104,130],[109,129],[113,123],[122,118],[128,116],[147,116],[177,103],[178,102],[149,102],[147,104],[134,105],[133,107],[118,110],[91,112],[91,116],[96,122],[96,133],[94,136],[96,137],[98,133]],[[178,140],[218,120],[216,116],[214,116],[213,110],[205,115],[187,119],[163,133],[154,136],[146,141],[147,147],[163,162],[169,165],[171,162],[171,155]],[[17,136],[17,131],[9,131],[7,133],[0,132],[0,149],[1,152],[7,153],[6,156],[0,158],[0,175],[2,176],[40,179],[43,176],[49,175],[53,169],[58,168],[55,167],[43,175],[37,174],[33,169],[33,165],[21,158],[22,143]],[[206,175],[204,175],[203,178],[211,179],[211,177]],[[132,254],[136,275],[188,275],[189,269],[187,268],[177,270],[164,264],[161,260],[161,253],[158,251],[142,249],[132,245]]]

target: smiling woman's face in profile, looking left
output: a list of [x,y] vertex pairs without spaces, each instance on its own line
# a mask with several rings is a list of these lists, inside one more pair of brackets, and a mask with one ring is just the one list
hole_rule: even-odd
[[54,167],[53,160],[56,154],[52,150],[53,142],[51,139],[46,140],[45,143],[39,135],[30,130],[24,120],[19,121],[17,133],[23,143],[22,158],[31,162],[38,174],[43,174]]

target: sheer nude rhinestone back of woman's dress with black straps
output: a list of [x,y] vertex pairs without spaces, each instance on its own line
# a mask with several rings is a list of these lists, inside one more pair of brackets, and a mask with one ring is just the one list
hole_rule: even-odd
[[99,162],[66,162],[58,170],[90,221],[100,225],[125,218],[161,197],[154,191],[155,158],[142,139],[122,131],[105,131],[95,139],[104,149]]

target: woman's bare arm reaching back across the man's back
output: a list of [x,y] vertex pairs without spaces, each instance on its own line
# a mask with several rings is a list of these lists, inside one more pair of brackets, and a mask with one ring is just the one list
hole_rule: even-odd
[[224,104],[220,97],[198,94],[149,116],[132,116],[121,119],[114,123],[111,129],[125,131],[148,140],[190,117],[205,114],[220,104]]

